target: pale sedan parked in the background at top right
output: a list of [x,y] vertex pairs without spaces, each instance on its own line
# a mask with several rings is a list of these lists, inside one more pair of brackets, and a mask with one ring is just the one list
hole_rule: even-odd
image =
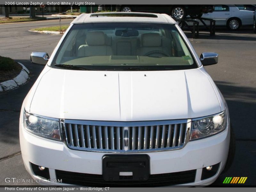
[[230,30],[237,30],[242,25],[253,25],[253,11],[239,10],[235,5],[215,5],[212,13],[203,14],[202,18],[216,21],[216,26],[227,26]]

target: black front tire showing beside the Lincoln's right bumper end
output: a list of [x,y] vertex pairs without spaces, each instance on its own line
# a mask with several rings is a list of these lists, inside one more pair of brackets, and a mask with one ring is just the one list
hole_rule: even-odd
[[229,142],[229,150],[228,150],[228,159],[222,173],[227,172],[228,169],[231,167],[234,161],[235,152],[236,152],[236,138],[235,138],[235,133],[234,133],[232,124],[230,124],[230,142]]

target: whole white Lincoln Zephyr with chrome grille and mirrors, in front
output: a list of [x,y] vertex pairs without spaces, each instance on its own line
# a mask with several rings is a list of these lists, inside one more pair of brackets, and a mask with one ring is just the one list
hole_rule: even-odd
[[227,170],[227,104],[166,14],[81,14],[26,96],[20,146],[33,179],[54,185],[209,185]]

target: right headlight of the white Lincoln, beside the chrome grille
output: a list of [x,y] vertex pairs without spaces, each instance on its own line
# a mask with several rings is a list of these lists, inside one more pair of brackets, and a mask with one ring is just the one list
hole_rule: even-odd
[[190,140],[200,139],[214,135],[226,129],[226,111],[214,116],[203,117],[192,121]]

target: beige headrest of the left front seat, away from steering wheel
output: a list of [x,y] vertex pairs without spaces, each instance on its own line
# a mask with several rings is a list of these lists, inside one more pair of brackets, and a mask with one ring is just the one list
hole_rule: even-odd
[[105,34],[102,31],[90,31],[86,34],[87,45],[105,45]]

